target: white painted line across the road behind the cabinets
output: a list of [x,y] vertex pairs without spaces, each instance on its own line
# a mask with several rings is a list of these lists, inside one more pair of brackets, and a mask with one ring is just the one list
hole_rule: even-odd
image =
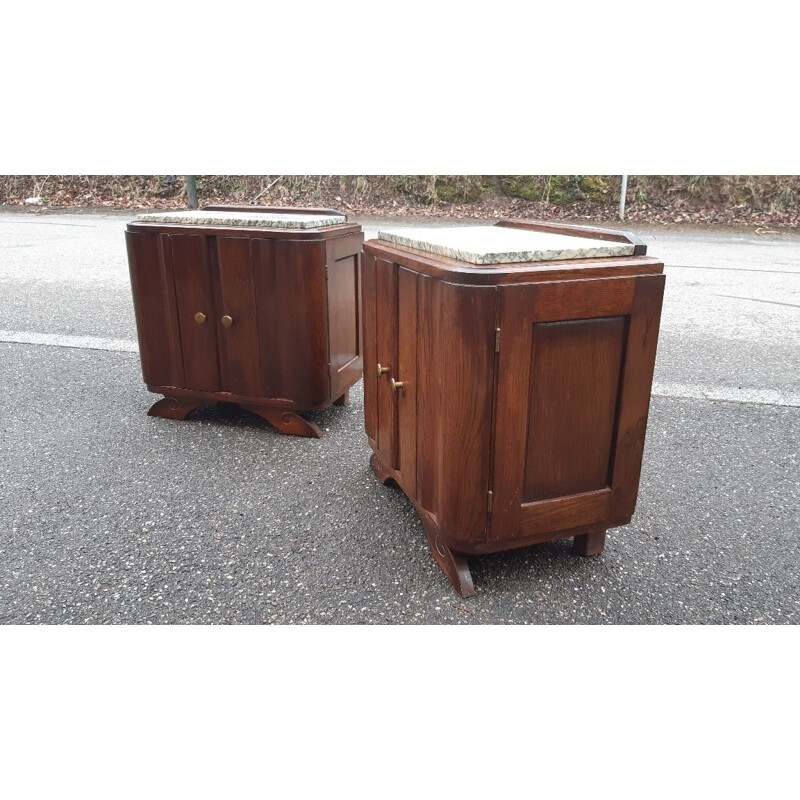
[[[101,336],[67,336],[54,333],[29,333],[0,330],[0,342],[42,344],[50,347],[77,347],[82,350],[108,350],[138,353],[139,346],[130,339],[106,339]],[[800,393],[775,389],[730,388],[703,386],[695,383],[653,383],[653,397],[675,397],[688,400],[721,400],[728,403],[751,403],[760,406],[800,407]]]

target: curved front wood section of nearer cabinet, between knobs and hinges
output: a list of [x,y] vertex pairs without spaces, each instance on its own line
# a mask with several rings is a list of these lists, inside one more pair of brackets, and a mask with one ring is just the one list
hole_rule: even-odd
[[[428,413],[435,415],[437,505],[447,540],[486,538],[497,291],[436,281],[429,313]],[[423,445],[424,446],[424,445]]]

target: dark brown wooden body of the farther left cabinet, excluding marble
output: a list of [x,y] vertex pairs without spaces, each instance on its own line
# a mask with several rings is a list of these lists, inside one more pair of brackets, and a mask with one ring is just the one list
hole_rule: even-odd
[[142,372],[150,391],[168,398],[150,413],[183,419],[223,400],[260,409],[284,433],[320,436],[289,412],[342,404],[361,376],[363,238],[352,224],[129,224]]

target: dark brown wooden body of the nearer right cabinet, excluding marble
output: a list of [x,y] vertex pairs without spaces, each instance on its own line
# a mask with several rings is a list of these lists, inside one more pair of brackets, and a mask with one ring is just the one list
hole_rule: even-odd
[[[606,233],[569,235],[635,243]],[[607,528],[630,521],[662,271],[643,254],[475,268],[365,243],[370,463],[414,503],[464,596],[465,554],[572,536],[593,555]]]

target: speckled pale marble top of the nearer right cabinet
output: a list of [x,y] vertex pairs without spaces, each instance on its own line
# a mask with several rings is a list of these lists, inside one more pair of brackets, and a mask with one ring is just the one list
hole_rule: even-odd
[[496,225],[386,228],[378,231],[378,238],[476,265],[629,256],[633,255],[634,247],[630,242],[608,242]]

